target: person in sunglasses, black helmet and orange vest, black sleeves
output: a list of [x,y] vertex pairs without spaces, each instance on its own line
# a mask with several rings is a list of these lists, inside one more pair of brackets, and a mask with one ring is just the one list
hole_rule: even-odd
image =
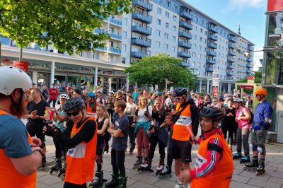
[[[86,106],[81,98],[71,98],[63,106],[64,112],[74,122],[71,136],[62,134],[52,125],[44,127],[48,136],[58,139],[69,150],[67,152],[66,176],[64,188],[86,187],[86,182],[93,180],[96,157],[97,125],[94,117],[88,117]],[[86,168],[87,167],[87,168]]]

